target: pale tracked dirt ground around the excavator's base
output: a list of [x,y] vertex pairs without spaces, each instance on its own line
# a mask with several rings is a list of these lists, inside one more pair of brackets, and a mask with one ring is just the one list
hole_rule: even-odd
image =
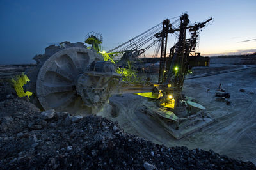
[[[245,65],[212,65],[196,68],[193,75],[201,73],[246,68]],[[110,102],[118,116],[105,114],[112,121],[118,121],[125,132],[138,135],[153,143],[166,146],[187,146],[189,149],[200,148],[213,150],[221,155],[239,158],[256,164],[256,68],[237,72],[223,73],[184,82],[184,93],[193,97],[206,108],[206,112],[215,121],[182,139],[175,139],[163,127],[140,111],[142,101],[147,98],[137,95],[115,95]],[[230,93],[229,101],[216,101],[215,89],[219,83]],[[207,89],[210,91],[207,93]],[[244,89],[245,92],[240,92]]]

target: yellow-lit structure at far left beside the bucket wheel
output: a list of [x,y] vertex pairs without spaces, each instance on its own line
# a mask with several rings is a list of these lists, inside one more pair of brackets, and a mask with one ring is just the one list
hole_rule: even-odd
[[25,93],[23,89],[24,84],[26,84],[28,81],[30,80],[28,76],[25,75],[24,73],[22,73],[22,75],[17,75],[14,79],[12,79],[13,86],[15,88],[15,91],[18,97],[28,96],[28,98],[30,98],[30,96],[32,95],[30,91],[26,91]]

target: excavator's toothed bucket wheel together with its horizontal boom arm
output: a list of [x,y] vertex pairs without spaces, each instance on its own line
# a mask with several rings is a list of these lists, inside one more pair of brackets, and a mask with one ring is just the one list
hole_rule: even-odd
[[26,70],[33,103],[44,110],[96,114],[113,94],[152,92],[152,86],[121,82],[115,64],[83,43],[62,42],[36,55],[36,68]]

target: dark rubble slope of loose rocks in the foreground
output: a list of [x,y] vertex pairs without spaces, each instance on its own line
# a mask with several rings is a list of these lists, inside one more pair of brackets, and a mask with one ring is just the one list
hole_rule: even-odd
[[0,169],[256,169],[212,150],[154,144],[102,116],[41,112],[0,83]]

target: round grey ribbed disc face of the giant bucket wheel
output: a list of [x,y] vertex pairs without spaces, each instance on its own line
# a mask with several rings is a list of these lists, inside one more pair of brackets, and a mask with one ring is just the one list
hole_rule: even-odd
[[[42,107],[83,115],[102,109],[109,98],[109,86],[104,82],[107,80],[84,75],[90,63],[101,60],[104,59],[100,54],[84,47],[69,47],[52,54],[41,66],[36,79],[36,96]],[[95,90],[99,84],[104,87]],[[89,94],[85,103],[81,93]]]

